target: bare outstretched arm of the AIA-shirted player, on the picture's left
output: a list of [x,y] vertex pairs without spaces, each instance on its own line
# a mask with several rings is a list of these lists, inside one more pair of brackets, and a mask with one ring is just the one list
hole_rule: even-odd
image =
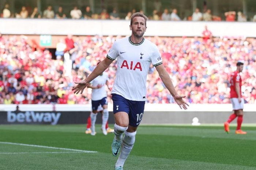
[[76,85],[75,87],[72,88],[74,90],[74,93],[78,94],[79,92],[82,94],[84,88],[86,88],[91,80],[95,79],[97,76],[99,76],[103,71],[105,71],[109,65],[113,62],[113,60],[110,60],[108,57],[106,57],[101,63],[97,65],[97,67],[91,72],[91,74],[84,80],[80,82],[75,82]]

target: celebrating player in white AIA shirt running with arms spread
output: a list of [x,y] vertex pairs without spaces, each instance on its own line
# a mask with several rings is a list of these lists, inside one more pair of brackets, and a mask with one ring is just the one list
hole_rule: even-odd
[[117,156],[120,150],[121,152],[115,170],[123,170],[124,162],[135,142],[136,129],[143,117],[147,92],[146,79],[151,63],[180,108],[187,109],[188,106],[182,99],[185,96],[177,94],[169,74],[163,67],[157,46],[143,37],[147,29],[146,22],[147,17],[144,14],[133,14],[130,23],[132,35],[116,40],[107,57],[86,79],[72,88],[74,93],[82,94],[89,82],[117,59],[116,79],[112,89],[115,136],[111,147],[113,156]]

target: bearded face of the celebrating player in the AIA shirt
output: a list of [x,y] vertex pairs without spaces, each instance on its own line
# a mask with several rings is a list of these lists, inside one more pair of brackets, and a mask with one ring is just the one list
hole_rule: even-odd
[[141,16],[136,16],[132,20],[132,25],[130,25],[130,30],[132,30],[132,34],[136,38],[143,37],[143,34],[145,33],[147,27],[145,24],[145,19]]

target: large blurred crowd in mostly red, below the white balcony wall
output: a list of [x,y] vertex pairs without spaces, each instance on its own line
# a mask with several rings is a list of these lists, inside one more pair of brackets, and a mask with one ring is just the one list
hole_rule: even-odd
[[[58,42],[54,60],[48,49],[35,49],[25,36],[0,35],[0,104],[90,103],[91,89],[76,95],[71,88],[106,57],[117,38],[69,35]],[[247,103],[256,103],[256,39],[146,38],[158,46],[176,90],[187,102],[230,103],[230,74],[236,62],[244,60],[242,95]],[[107,69],[110,89],[116,68],[114,61]],[[152,65],[147,90],[148,103],[174,103]]]

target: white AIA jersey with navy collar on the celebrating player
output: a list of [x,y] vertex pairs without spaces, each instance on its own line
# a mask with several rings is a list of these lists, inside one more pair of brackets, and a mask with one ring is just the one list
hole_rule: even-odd
[[147,39],[139,44],[131,42],[131,37],[118,39],[109,50],[107,57],[117,58],[116,79],[112,93],[128,100],[146,101],[146,80],[150,64],[162,64],[162,58],[155,44]]

